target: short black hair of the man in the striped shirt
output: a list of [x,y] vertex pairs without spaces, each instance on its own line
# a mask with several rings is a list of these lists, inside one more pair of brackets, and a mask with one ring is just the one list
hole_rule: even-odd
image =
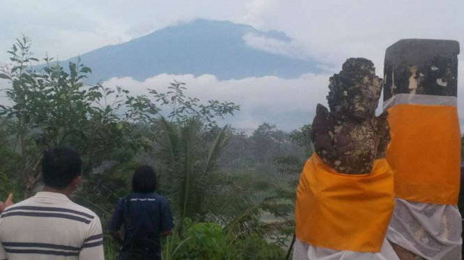
[[68,187],[82,173],[82,158],[73,147],[59,146],[44,152],[42,174],[45,186]]

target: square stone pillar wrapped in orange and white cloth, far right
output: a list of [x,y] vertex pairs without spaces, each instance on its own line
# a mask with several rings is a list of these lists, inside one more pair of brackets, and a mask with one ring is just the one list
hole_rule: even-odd
[[[433,236],[445,237],[444,241],[451,241],[446,245],[433,245],[429,247],[429,252],[421,249],[425,245],[416,247],[415,241],[405,245],[398,245],[393,241],[394,249],[401,260],[424,259],[419,254],[435,259],[435,256],[440,255],[440,250],[448,250],[447,259],[461,259],[458,255],[460,248],[456,246],[460,238],[457,233],[460,233],[458,229],[461,229],[461,217],[455,210],[461,143],[456,108],[458,54],[459,43],[454,40],[425,39],[399,40],[385,54],[384,109],[390,113],[392,133],[387,160],[396,172],[396,195],[404,199],[397,203],[401,207],[396,207],[390,227],[395,229],[396,237],[403,236],[403,241],[416,239],[408,233],[421,234],[419,241],[433,241]],[[435,151],[424,151],[424,148]],[[407,165],[408,160],[410,165]],[[427,179],[438,181],[433,183]],[[417,195],[418,193],[421,195]],[[413,209],[422,204],[430,204],[431,208],[442,210],[440,218],[449,220],[447,227],[434,229],[440,226],[437,225],[440,223],[434,222],[440,218],[426,216],[439,214],[438,210],[424,212],[424,217],[406,213],[405,209],[408,207]],[[401,224],[405,219],[410,222]],[[435,231],[441,233],[434,234]],[[395,240],[394,236],[391,239]]]

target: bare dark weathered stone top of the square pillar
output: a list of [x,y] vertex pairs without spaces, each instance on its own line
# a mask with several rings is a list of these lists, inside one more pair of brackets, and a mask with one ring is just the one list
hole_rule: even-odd
[[457,96],[459,43],[454,40],[399,40],[384,63],[384,100],[400,93]]

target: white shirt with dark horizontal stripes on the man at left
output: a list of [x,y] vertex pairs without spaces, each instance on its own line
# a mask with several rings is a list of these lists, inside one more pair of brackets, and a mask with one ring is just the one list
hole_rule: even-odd
[[1,213],[3,259],[103,260],[100,218],[61,193],[37,193]]

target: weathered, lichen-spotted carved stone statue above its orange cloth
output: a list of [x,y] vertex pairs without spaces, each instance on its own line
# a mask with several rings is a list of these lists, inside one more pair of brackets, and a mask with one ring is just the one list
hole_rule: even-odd
[[330,111],[317,104],[313,121],[315,152],[337,172],[370,173],[390,140],[387,113],[375,117],[382,79],[371,60],[349,58],[329,89]]

